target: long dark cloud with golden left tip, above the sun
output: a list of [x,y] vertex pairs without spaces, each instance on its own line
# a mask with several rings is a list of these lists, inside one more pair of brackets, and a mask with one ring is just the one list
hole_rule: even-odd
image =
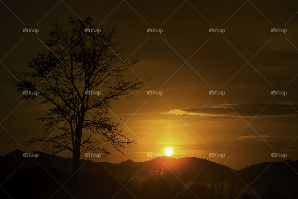
[[[255,117],[258,113],[264,117],[280,117],[297,115],[297,102],[276,102],[276,103],[237,103],[237,104],[219,104],[209,108],[183,108],[172,109],[169,112],[161,114],[177,115],[197,115],[197,116],[216,116],[216,117]],[[268,105],[267,105],[268,104]],[[267,106],[266,106],[267,105]],[[231,107],[233,108],[231,108]],[[266,107],[266,108],[264,108]],[[239,114],[237,114],[237,113]]]

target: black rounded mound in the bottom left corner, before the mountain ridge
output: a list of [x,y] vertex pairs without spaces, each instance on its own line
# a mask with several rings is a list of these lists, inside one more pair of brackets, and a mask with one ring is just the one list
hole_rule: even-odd
[[63,171],[46,165],[24,169],[13,173],[3,183],[7,194],[2,193],[1,198],[71,198],[65,190],[59,189],[65,182],[64,187],[72,186],[72,181],[67,181],[69,178]]

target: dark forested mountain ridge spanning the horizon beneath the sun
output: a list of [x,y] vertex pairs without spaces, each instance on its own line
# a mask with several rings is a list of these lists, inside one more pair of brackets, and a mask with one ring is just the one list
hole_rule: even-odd
[[[80,162],[82,168],[79,170],[80,188],[74,189],[74,182],[71,178],[71,158],[63,158],[43,152],[34,152],[38,154],[38,157],[23,157],[23,153],[23,151],[15,150],[0,156],[0,177],[1,182],[4,182],[1,187],[10,192],[9,195],[12,194],[16,198],[21,197],[26,190],[30,190],[32,187],[38,190],[39,194],[36,194],[36,197],[40,198],[40,194],[42,194],[44,198],[50,198],[50,195],[54,194],[55,191],[47,192],[47,188],[59,189],[65,182],[67,183],[63,187],[73,190],[78,198],[80,198],[81,193],[76,191],[82,190],[82,187],[86,189],[101,187],[102,190],[109,190],[109,192],[98,193],[103,198],[113,197],[112,193],[122,188],[121,196],[127,194],[127,198],[129,198],[131,194],[123,188],[124,184],[130,186],[130,189],[137,194],[145,185],[156,186],[150,184],[150,179],[159,179],[158,183],[161,183],[159,187],[164,186],[164,189],[170,189],[169,186],[178,186],[176,189],[183,189],[185,186],[182,183],[186,185],[192,182],[193,187],[198,186],[196,188],[200,188],[200,190],[203,187],[204,190],[210,192],[211,184],[215,184],[218,192],[220,192],[220,186],[223,185],[221,194],[228,196],[229,188],[233,187],[234,184],[234,197],[242,193],[259,198],[270,188],[289,198],[298,196],[296,183],[298,181],[298,174],[296,173],[298,162],[293,160],[264,162],[236,171],[225,165],[196,157],[178,159],[157,157],[146,162],[126,160],[119,164],[96,163],[82,159]],[[109,186],[111,184],[113,187]],[[21,187],[20,192],[14,192],[14,187]],[[185,191],[188,191],[187,188]],[[183,190],[183,192],[185,191]],[[45,192],[48,194],[43,194]],[[6,193],[2,194],[7,197]],[[92,194],[90,197],[93,196]],[[84,198],[84,196],[81,197]],[[30,197],[32,198],[31,195]],[[60,188],[52,198],[55,197],[68,198],[70,194],[64,188]],[[164,198],[166,197],[164,196]]]

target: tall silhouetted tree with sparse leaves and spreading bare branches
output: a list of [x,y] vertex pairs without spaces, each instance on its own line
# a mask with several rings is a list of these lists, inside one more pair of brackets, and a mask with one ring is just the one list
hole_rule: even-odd
[[124,57],[116,32],[115,26],[93,25],[90,17],[54,20],[46,48],[27,58],[26,69],[12,71],[16,91],[27,94],[22,99],[38,99],[49,106],[49,113],[37,119],[45,122],[43,136],[24,144],[37,142],[52,154],[71,151],[75,178],[81,152],[108,155],[111,152],[103,147],[107,142],[122,153],[121,148],[134,142],[122,132],[121,121],[114,121],[109,113],[115,100],[129,99],[144,85],[139,78],[124,79],[123,73],[138,60]]

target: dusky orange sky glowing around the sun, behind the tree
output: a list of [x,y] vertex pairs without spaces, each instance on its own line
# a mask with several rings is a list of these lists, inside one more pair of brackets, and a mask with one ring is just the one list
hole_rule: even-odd
[[[0,8],[2,18],[10,19],[3,21],[0,49],[1,63],[7,68],[22,67],[26,56],[44,47],[39,39],[46,38],[53,17],[66,20],[78,15],[106,25],[115,23],[124,53],[140,60],[126,77],[151,78],[132,99],[120,99],[111,109],[115,119],[127,121],[124,131],[137,143],[123,150],[125,156],[107,145],[112,155],[92,160],[146,161],[148,152],[164,153],[168,146],[174,149],[173,157],[207,158],[234,169],[283,160],[272,158],[272,152],[297,159],[298,16],[293,17],[297,2],[273,1],[269,6],[267,1],[120,2],[67,2],[73,11],[62,2],[48,15],[58,2],[36,1],[34,6],[6,2],[21,21],[6,7]],[[24,35],[25,27],[40,31]],[[163,32],[148,33],[148,28]],[[210,33],[210,28],[225,32]],[[272,33],[272,28],[287,33]],[[37,101],[21,103],[21,94],[12,93],[12,76],[4,66],[0,69],[2,126],[21,143],[43,133],[34,118],[47,110]],[[149,90],[163,94],[147,95]],[[209,95],[210,90],[225,94]],[[287,95],[271,95],[272,90]],[[0,129],[1,154],[37,150],[35,145],[21,148],[5,129]],[[212,158],[210,152],[225,157]]]

